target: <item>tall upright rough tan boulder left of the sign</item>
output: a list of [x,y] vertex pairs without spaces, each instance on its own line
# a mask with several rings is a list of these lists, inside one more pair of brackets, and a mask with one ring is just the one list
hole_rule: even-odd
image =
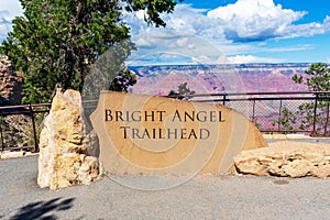
[[98,158],[87,153],[87,132],[78,91],[57,90],[40,139],[40,187],[88,185],[99,177]]

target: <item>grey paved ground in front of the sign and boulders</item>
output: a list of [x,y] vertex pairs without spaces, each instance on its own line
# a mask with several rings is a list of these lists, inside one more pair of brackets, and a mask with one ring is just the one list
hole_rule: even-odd
[[330,179],[199,175],[105,177],[51,191],[36,185],[37,156],[0,161],[0,219],[329,219]]

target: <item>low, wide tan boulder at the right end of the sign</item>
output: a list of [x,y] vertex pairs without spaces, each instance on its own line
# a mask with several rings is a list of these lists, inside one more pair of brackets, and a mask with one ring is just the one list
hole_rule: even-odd
[[237,170],[258,176],[320,178],[330,176],[330,145],[279,141],[268,147],[242,151],[234,158]]

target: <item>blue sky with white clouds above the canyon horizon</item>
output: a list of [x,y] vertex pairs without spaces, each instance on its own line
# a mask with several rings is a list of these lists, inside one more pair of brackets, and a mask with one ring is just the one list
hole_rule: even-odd
[[[131,65],[330,63],[328,0],[185,0],[148,26],[144,11],[123,13],[138,51]],[[0,41],[22,15],[18,0],[0,0]]]

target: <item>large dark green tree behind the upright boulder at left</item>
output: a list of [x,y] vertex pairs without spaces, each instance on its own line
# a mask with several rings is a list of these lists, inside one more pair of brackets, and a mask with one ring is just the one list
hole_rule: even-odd
[[[117,65],[122,66],[111,89],[125,90],[134,76],[123,62],[136,50],[130,29],[122,22],[123,9],[145,10],[145,21],[164,26],[161,13],[170,13],[174,0],[20,0],[23,16],[13,20],[13,31],[2,42],[6,54],[24,75],[23,102],[48,101],[55,85],[81,91],[91,66],[120,44]],[[125,3],[125,4],[123,4]]]

